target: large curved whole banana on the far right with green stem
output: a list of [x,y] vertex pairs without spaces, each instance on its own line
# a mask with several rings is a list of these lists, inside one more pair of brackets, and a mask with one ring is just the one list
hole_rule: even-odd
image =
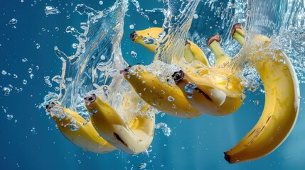
[[240,24],[232,29],[232,37],[250,47],[248,62],[254,64],[265,91],[264,110],[257,124],[232,149],[225,152],[230,164],[264,157],[277,149],[294,128],[299,113],[299,83],[294,67],[284,52],[272,50],[272,40],[254,35],[245,43]]

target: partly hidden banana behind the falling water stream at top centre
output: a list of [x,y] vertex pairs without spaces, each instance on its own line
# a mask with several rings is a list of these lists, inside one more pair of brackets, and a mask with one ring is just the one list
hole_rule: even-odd
[[[154,43],[154,40],[159,38],[159,35],[163,32],[162,28],[147,28],[145,30],[137,30],[134,31],[134,33],[130,34],[130,38],[133,42],[137,42],[143,47],[145,47],[150,52],[155,53],[156,52],[156,44]],[[193,57],[188,57],[187,55],[184,55],[187,62],[191,62],[192,60],[198,60],[205,64],[206,66],[209,66],[208,59],[206,58],[203,51],[191,40],[186,40],[186,45],[189,45],[189,48],[191,50],[191,54]]]

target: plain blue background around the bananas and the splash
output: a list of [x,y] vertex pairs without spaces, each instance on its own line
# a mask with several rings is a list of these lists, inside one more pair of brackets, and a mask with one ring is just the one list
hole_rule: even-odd
[[[73,4],[71,4],[73,2]],[[264,106],[264,96],[247,92],[245,103],[236,113],[225,117],[201,115],[191,120],[170,115],[157,115],[156,123],[164,122],[171,128],[166,137],[156,130],[152,142],[152,152],[129,155],[119,151],[109,154],[92,154],[75,147],[65,140],[55,123],[48,118],[44,108],[37,106],[43,102],[48,91],[54,91],[44,82],[44,77],[60,74],[61,61],[55,56],[54,46],[71,55],[75,51],[71,45],[77,40],[65,28],[79,28],[87,16],[74,11],[77,4],[102,10],[114,1],[3,1],[0,8],[0,86],[13,86],[23,91],[12,90],[9,96],[0,94],[0,169],[137,169],[146,163],[146,169],[304,169],[305,168],[305,124],[304,98],[301,98],[299,119],[287,140],[272,154],[252,162],[228,164],[223,152],[233,147],[257,122]],[[144,3],[142,8],[162,7],[161,2]],[[46,6],[58,6],[61,13],[46,16]],[[152,26],[137,11],[129,6],[125,22],[122,52],[129,64],[141,62],[149,64],[153,54],[129,40],[129,33]],[[69,16],[67,18],[67,16]],[[154,16],[162,18],[163,16]],[[16,28],[9,24],[12,18],[18,22]],[[155,25],[156,26],[156,25]],[[158,23],[157,26],[161,26]],[[55,28],[59,30],[56,31]],[[43,28],[46,29],[43,31]],[[78,29],[80,30],[80,29]],[[215,31],[215,30],[213,30]],[[213,31],[206,35],[213,35]],[[216,30],[219,31],[219,30]],[[36,48],[36,43],[40,47]],[[130,52],[137,52],[134,58]],[[27,58],[28,62],[22,62]],[[36,66],[39,69],[36,69]],[[28,69],[33,69],[30,78]],[[14,78],[13,74],[18,75]],[[23,84],[26,79],[27,84]],[[304,96],[304,84],[300,84]],[[259,101],[259,105],[255,105]],[[14,115],[8,120],[6,115]],[[34,129],[33,129],[34,128]]]

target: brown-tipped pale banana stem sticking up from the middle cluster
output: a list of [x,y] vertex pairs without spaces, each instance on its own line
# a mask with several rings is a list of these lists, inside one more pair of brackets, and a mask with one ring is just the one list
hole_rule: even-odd
[[224,64],[230,60],[230,57],[226,55],[225,52],[223,52],[223,49],[220,47],[220,42],[221,38],[218,33],[208,38],[208,46],[215,55],[215,66]]

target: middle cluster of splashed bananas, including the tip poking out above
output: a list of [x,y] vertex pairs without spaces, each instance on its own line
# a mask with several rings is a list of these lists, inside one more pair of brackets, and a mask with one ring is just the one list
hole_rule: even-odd
[[[145,40],[159,38],[161,31],[161,28],[148,28],[135,31],[130,37],[132,41],[154,52],[156,46],[146,44]],[[190,43],[186,43],[184,58],[191,62],[192,66],[183,66],[189,71],[188,74],[181,71],[173,75],[176,84],[161,81],[158,75],[147,71],[141,65],[124,69],[124,77],[134,90],[141,94],[140,97],[144,101],[164,113],[182,118],[197,117],[202,113],[228,115],[240,108],[243,86],[238,75],[228,72],[227,68],[217,67],[230,61],[230,57],[221,49],[220,41],[218,34],[208,40],[216,58],[215,67],[210,67],[200,48],[187,40]],[[198,56],[205,60],[198,60]],[[179,73],[181,76],[183,74],[183,77],[178,77]]]

